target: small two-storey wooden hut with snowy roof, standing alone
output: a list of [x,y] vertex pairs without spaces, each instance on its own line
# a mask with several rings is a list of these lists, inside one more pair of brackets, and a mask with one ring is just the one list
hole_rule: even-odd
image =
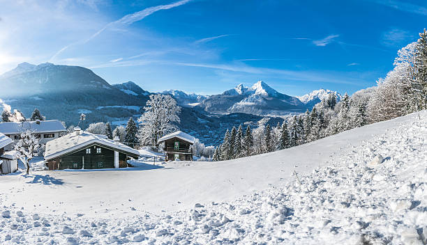
[[166,161],[181,160],[193,161],[193,147],[195,138],[181,131],[167,134],[158,140],[165,143]]

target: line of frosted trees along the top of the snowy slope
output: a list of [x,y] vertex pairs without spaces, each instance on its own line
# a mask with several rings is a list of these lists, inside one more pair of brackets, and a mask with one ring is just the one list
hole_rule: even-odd
[[213,161],[283,150],[364,125],[427,109],[427,31],[398,51],[394,69],[377,86],[345,94],[339,102],[330,93],[310,111],[288,116],[272,127],[267,118],[258,127],[227,129]]

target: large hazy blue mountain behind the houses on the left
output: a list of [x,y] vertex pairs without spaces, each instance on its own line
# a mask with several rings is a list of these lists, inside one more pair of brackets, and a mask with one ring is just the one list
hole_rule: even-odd
[[[87,125],[129,118],[140,112],[135,108],[147,102],[146,95],[123,93],[80,66],[21,63],[0,75],[0,84],[8,88],[0,89],[0,98],[9,100],[8,104],[24,115],[30,116],[38,108],[47,118],[63,120],[67,125],[76,125],[80,113],[87,114]],[[130,89],[139,88],[132,84],[126,83]]]

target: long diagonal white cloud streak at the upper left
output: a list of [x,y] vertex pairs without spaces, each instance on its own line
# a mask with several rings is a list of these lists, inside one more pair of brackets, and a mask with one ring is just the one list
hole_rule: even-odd
[[114,22],[110,22],[110,23],[106,24],[102,29],[100,29],[96,33],[93,33],[93,35],[91,35],[89,38],[87,38],[85,40],[79,40],[77,42],[73,42],[70,45],[66,45],[65,47],[59,49],[59,51],[57,53],[55,53],[52,56],[52,58],[50,58],[50,61],[52,61],[54,58],[56,58],[59,54],[61,54],[63,51],[65,51],[69,47],[72,47],[75,45],[85,44],[85,43],[89,42],[90,40],[92,40],[93,38],[96,38],[96,36],[98,36],[100,33],[102,33],[103,31],[105,31],[106,29],[108,29],[112,26],[130,25],[130,24],[133,24],[135,22],[138,22],[138,21],[144,19],[145,17],[147,17],[149,15],[152,15],[153,13],[156,13],[159,10],[167,10],[170,8],[176,8],[178,6],[181,6],[183,4],[188,3],[190,1],[192,1],[192,0],[181,0],[181,1],[174,2],[174,3],[166,4],[166,5],[153,6],[153,7],[145,8],[141,11],[138,11],[138,12],[135,12],[135,13],[132,13],[129,15],[125,15],[125,16],[121,17],[120,19],[117,19]]

